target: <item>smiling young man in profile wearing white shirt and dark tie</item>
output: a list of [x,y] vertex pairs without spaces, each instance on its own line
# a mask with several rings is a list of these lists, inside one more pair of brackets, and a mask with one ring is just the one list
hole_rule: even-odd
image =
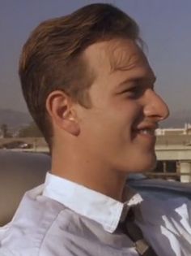
[[141,46],[138,25],[108,4],[45,21],[29,37],[19,76],[52,168],[23,197],[1,256],[191,253],[188,202],[125,186],[129,173],[155,167],[155,129],[168,117]]

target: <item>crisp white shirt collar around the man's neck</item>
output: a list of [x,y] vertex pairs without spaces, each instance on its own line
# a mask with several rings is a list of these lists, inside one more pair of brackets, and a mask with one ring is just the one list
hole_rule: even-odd
[[62,203],[79,215],[100,223],[106,231],[111,233],[116,230],[129,206],[142,202],[142,197],[138,193],[135,193],[125,203],[118,202],[102,193],[49,172],[45,178],[43,195]]

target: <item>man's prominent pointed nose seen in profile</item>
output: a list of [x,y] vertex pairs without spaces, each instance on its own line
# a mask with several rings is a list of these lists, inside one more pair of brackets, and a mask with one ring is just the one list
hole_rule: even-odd
[[159,97],[152,89],[146,90],[146,102],[144,107],[144,115],[147,117],[153,117],[156,121],[162,121],[167,119],[169,115],[169,109],[167,104]]

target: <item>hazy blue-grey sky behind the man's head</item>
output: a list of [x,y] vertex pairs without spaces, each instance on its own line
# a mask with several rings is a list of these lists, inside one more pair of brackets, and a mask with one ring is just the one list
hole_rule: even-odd
[[93,2],[112,3],[138,22],[157,76],[156,92],[172,115],[191,111],[190,0],[0,0],[0,108],[27,112],[18,63],[32,29]]

